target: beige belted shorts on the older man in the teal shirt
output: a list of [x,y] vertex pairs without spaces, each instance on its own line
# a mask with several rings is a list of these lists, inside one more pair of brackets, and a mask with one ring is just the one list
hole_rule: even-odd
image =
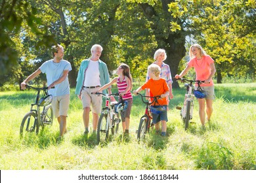
[[91,94],[97,90],[98,88],[83,88],[81,92],[81,100],[83,108],[91,107],[93,113],[100,114],[102,108],[102,97],[99,95]]

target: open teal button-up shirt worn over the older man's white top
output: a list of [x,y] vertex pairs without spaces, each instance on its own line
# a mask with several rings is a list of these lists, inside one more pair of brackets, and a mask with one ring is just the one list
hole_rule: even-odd
[[[90,59],[85,59],[81,62],[77,79],[76,79],[76,87],[75,87],[75,94],[80,95],[81,91],[83,90],[83,82],[85,81],[85,72],[88,68],[90,63]],[[110,75],[108,74],[108,67],[106,63],[98,59],[98,69],[100,71],[100,85],[104,86],[110,82]],[[106,93],[106,90],[103,91]]]

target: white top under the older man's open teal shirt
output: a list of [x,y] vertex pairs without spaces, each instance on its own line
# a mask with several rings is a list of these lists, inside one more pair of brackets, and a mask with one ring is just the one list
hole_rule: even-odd
[[85,71],[85,81],[83,86],[100,86],[100,70],[98,69],[98,61],[90,60]]

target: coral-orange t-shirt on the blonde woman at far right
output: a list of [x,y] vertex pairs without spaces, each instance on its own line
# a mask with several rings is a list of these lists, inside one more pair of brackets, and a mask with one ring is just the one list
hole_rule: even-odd
[[[214,63],[214,61],[210,56],[203,56],[200,60],[196,58],[191,59],[188,65],[195,68],[196,80],[207,80],[209,75],[211,75],[211,63]],[[209,84],[202,83],[200,86],[213,86],[213,79],[211,79]]]

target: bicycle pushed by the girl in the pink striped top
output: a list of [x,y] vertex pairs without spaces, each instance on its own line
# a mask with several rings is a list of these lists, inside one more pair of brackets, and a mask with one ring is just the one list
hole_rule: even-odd
[[[97,142],[99,144],[100,142],[108,141],[110,129],[112,135],[118,132],[119,123],[121,122],[119,113],[126,109],[125,107],[127,107],[127,103],[123,101],[123,98],[119,93],[104,94],[96,92],[92,94],[102,95],[102,97],[106,98],[106,105],[105,107],[102,107],[102,112],[98,119]],[[120,100],[119,103],[117,103],[117,101],[111,102],[110,96],[118,96]]]

